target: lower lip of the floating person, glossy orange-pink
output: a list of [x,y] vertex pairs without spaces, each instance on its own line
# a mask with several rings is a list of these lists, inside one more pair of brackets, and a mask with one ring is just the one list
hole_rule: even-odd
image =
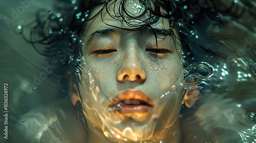
[[118,109],[118,112],[122,114],[147,113],[151,109],[152,107],[146,105],[123,105]]

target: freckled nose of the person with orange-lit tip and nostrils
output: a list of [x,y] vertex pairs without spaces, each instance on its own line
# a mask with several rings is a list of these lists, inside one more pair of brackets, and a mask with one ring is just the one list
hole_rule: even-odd
[[125,81],[138,81],[144,82],[146,73],[141,65],[141,58],[139,51],[134,46],[126,47],[127,50],[121,60],[121,68],[117,74],[117,80],[120,82]]

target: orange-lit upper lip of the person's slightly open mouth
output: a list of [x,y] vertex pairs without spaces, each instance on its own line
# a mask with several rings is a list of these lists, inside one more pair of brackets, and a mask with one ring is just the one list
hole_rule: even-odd
[[110,106],[115,106],[117,103],[124,102],[125,100],[140,100],[144,102],[147,106],[154,106],[154,102],[150,99],[146,93],[141,90],[126,89],[121,91],[111,100]]

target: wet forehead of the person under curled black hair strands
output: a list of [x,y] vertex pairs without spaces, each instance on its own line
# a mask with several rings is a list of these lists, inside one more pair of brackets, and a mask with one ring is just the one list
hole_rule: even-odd
[[[154,6],[152,8],[157,9]],[[161,7],[159,9],[162,12],[165,11]],[[97,13],[99,14],[94,17]],[[155,29],[170,29],[168,18],[160,17],[155,22],[148,22],[156,17],[145,7],[145,4],[135,0],[106,2],[94,8],[89,17],[94,17],[86,23],[85,30],[89,33],[104,27],[135,30],[138,27],[150,25]]]

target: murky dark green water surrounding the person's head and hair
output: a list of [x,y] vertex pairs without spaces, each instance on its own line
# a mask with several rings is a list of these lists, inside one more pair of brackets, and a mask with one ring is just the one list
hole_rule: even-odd
[[[40,9],[47,9],[53,18],[63,15],[52,1],[22,2],[0,3],[1,97],[4,83],[8,83],[9,111],[8,139],[3,136],[5,118],[0,117],[0,142],[84,142],[90,136],[82,105],[72,103],[69,97],[74,92],[69,89],[72,82],[55,74],[61,66],[47,57],[48,53],[39,54],[19,34],[24,30],[24,35],[29,35],[25,26],[35,20]],[[76,3],[70,1],[70,7],[76,9]],[[197,15],[202,7],[176,3],[187,10],[183,20],[189,23],[180,32],[186,33],[193,56],[183,56],[212,67],[212,76],[199,85],[201,99],[194,107],[181,110],[183,142],[256,142],[256,2],[209,2],[220,11],[210,16]],[[40,45],[36,47],[40,51]],[[61,58],[69,56],[64,53]],[[4,98],[0,102],[4,107]]]

